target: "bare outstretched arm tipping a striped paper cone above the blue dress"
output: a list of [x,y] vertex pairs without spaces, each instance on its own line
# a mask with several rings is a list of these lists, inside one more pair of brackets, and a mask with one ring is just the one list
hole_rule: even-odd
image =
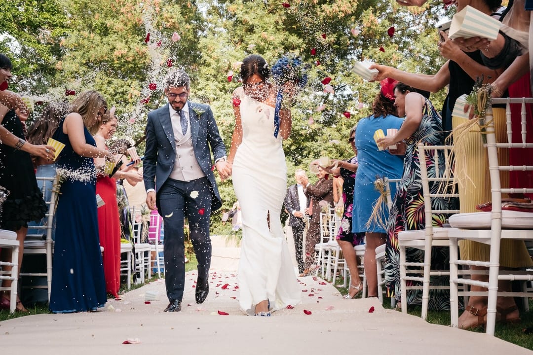
[[450,84],[450,71],[448,70],[448,62],[446,62],[439,69],[435,75],[408,73],[387,65],[373,64],[369,69],[377,69],[379,71],[376,81],[381,81],[385,78],[392,78],[403,82],[417,89],[426,90],[432,93],[438,92],[440,89]]

